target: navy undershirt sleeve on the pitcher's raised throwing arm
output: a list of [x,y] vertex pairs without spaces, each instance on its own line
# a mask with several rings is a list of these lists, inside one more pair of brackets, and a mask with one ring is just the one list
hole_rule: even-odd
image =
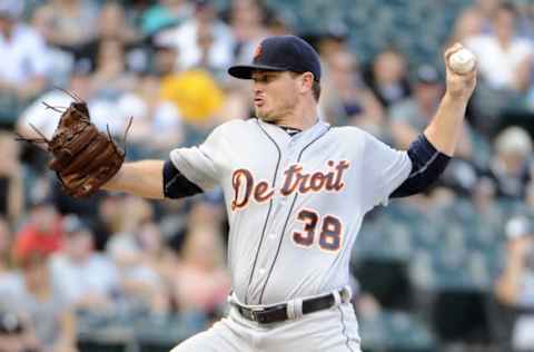
[[408,157],[412,160],[412,172],[408,178],[395,189],[389,197],[399,198],[424,192],[432,186],[447,167],[451,157],[438,151],[421,135],[408,148]]

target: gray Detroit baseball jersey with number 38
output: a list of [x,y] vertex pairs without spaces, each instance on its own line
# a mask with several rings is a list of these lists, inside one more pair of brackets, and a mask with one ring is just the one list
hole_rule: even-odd
[[222,187],[234,293],[254,305],[348,285],[364,215],[412,169],[406,151],[322,121],[291,137],[258,119],[233,120],[170,158],[200,188]]

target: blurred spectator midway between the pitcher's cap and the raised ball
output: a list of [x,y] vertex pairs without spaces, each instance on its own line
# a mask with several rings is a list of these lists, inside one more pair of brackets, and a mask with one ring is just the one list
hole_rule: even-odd
[[376,56],[366,81],[384,108],[411,95],[406,58],[388,48]]

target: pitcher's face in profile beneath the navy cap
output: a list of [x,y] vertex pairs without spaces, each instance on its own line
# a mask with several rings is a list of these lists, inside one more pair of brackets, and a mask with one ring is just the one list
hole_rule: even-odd
[[278,123],[297,105],[296,79],[287,71],[255,71],[254,110],[265,121]]

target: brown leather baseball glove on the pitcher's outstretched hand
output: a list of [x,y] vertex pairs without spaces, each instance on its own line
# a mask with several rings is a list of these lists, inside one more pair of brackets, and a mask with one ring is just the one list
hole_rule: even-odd
[[58,127],[50,140],[32,125],[30,126],[42,139],[23,137],[18,139],[44,143],[53,157],[48,167],[56,172],[63,190],[72,197],[82,198],[95,194],[117,174],[125,162],[126,151],[117,146],[109,128],[106,135],[91,123],[87,104],[77,96],[72,97],[77,101],[71,102],[65,111],[44,104],[47,108],[61,113]]

